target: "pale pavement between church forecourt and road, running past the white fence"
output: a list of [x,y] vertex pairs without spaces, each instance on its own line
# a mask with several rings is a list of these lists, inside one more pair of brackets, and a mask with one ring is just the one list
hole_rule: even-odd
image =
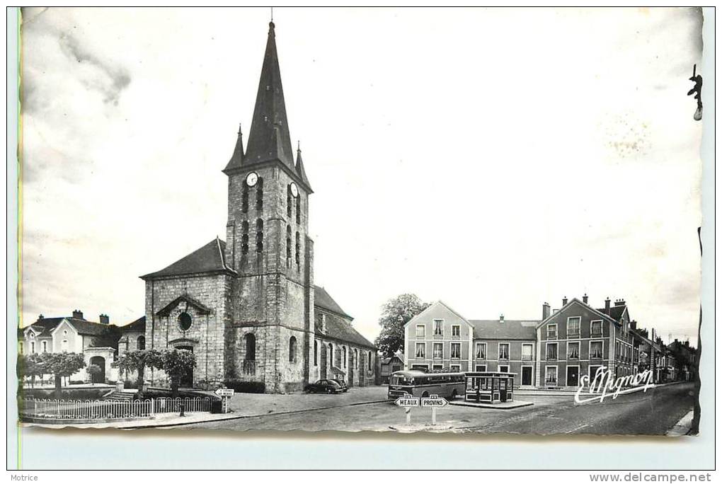
[[261,415],[283,415],[285,413],[305,412],[308,410],[325,410],[327,408],[349,407],[388,401],[386,386],[355,387],[348,392],[337,395],[291,393],[274,395],[266,393],[237,393],[230,402],[231,413],[186,413],[180,417],[178,413],[157,413],[155,418],[116,423],[85,423],[76,425],[62,424],[23,424],[45,428],[152,428],[188,425],[189,423],[236,420],[238,418],[257,417]]

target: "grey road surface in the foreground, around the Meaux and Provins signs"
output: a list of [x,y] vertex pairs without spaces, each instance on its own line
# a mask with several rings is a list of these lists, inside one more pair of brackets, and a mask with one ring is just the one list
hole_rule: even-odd
[[[483,434],[664,434],[694,404],[691,383],[619,395],[604,402],[575,405],[570,396],[519,397],[531,407],[495,410],[448,405],[438,409],[443,431]],[[196,423],[183,428],[276,431],[393,431],[405,422],[404,409],[391,402],[259,415]],[[430,423],[430,410],[412,410],[412,423]]]

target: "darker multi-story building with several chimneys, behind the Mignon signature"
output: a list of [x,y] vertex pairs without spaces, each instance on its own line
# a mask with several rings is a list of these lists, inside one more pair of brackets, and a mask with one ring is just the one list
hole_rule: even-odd
[[612,375],[632,374],[632,333],[627,305],[619,299],[611,306],[594,309],[583,299],[562,299],[562,307],[551,312],[542,307],[543,319],[536,328],[537,387],[578,387],[583,375],[593,379],[604,366]]

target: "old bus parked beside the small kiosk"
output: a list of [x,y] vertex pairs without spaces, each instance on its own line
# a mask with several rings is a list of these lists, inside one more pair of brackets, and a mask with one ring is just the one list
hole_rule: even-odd
[[464,395],[464,374],[450,371],[394,371],[388,378],[388,398],[396,399],[406,394],[414,397],[438,395],[453,400],[458,395]]

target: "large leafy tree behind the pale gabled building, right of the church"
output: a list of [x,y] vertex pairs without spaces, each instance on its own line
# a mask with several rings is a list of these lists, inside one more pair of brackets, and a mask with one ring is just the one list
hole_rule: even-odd
[[423,302],[416,294],[401,294],[383,305],[381,317],[378,319],[381,333],[375,344],[384,356],[393,356],[393,353],[404,348],[404,325],[429,306],[429,303]]

